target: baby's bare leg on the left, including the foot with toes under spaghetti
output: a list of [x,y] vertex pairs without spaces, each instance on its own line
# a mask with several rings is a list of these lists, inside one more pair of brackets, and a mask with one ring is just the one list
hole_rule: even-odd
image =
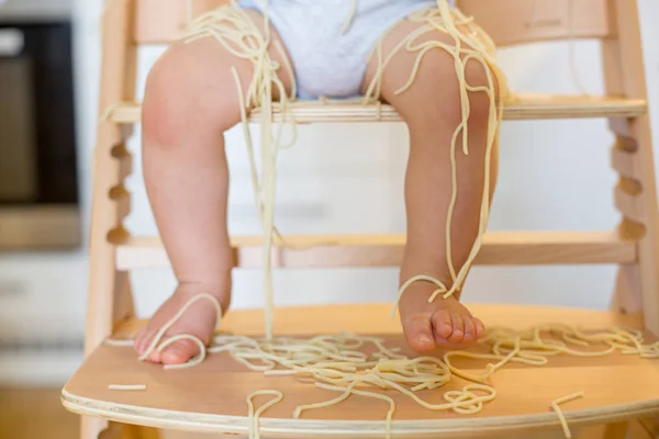
[[[260,14],[247,13],[263,26]],[[272,40],[280,41],[275,30],[271,32]],[[283,65],[275,47],[270,54]],[[205,292],[214,295],[224,311],[230,304],[232,255],[226,229],[224,132],[241,121],[232,66],[246,92],[252,63],[238,59],[208,37],[172,45],[148,77],[143,109],[144,178],[179,285],[138,335],[135,348],[139,353],[190,297]],[[286,72],[280,77],[290,90],[292,78]],[[200,301],[167,335],[191,334],[208,344],[214,326],[215,308]],[[181,340],[154,352],[149,360],[177,364],[198,353],[193,342]]]

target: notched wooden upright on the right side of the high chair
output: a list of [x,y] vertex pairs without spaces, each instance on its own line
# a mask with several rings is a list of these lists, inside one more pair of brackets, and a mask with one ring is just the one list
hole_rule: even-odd
[[[608,3],[616,19],[617,38],[602,43],[606,92],[647,99],[637,1]],[[646,329],[659,335],[659,207],[650,120],[647,114],[614,119],[610,126],[616,135],[613,167],[621,176],[615,200],[624,217],[621,234],[638,243],[638,274],[634,274],[638,286],[628,282],[628,293],[640,299]],[[618,280],[629,281],[622,271]],[[618,303],[621,300],[616,297]]]

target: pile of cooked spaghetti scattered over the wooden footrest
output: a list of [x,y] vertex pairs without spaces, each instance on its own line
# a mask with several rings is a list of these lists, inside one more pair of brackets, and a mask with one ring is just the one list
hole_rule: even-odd
[[[202,294],[197,300],[208,299]],[[194,301],[194,300],[193,300]],[[193,303],[193,302],[192,302]],[[185,309],[182,309],[185,311]],[[176,323],[182,313],[166,327]],[[163,349],[172,337],[159,342],[160,336],[149,348]],[[119,340],[108,340],[112,345],[127,345]],[[203,346],[203,345],[202,345]],[[429,410],[453,410],[469,415],[480,413],[484,405],[494,399],[496,370],[510,363],[523,363],[528,367],[543,367],[552,356],[572,356],[601,358],[614,353],[633,354],[644,359],[659,358],[659,341],[644,345],[641,331],[632,328],[610,328],[605,330],[585,330],[567,325],[540,325],[527,330],[514,330],[494,327],[470,350],[446,351],[442,357],[404,356],[400,347],[386,346],[386,340],[373,336],[360,336],[348,331],[336,335],[319,335],[310,338],[273,337],[253,338],[241,335],[216,335],[208,349],[191,362],[172,369],[191,368],[206,358],[206,354],[228,354],[245,368],[271,376],[276,386],[277,378],[282,375],[302,375],[312,379],[313,385],[335,391],[338,396],[326,402],[300,405],[292,413],[300,417],[309,409],[330,407],[342,403],[350,395],[383,399],[389,403],[387,413],[387,435],[391,432],[391,421],[395,412],[393,395],[412,398]],[[457,362],[470,362],[470,367],[459,368]],[[480,360],[482,371],[473,365]],[[587,360],[588,361],[588,360]],[[171,367],[166,367],[170,369]],[[460,380],[466,385],[461,390],[443,391],[451,380]],[[311,385],[311,384],[310,384]],[[454,386],[455,387],[455,386]],[[426,391],[443,392],[445,402],[431,404],[423,399]],[[253,398],[258,395],[273,396],[258,409]],[[584,396],[582,392],[557,399],[551,407],[557,412],[566,436],[570,432],[558,408],[558,404],[574,397]],[[283,393],[277,390],[258,390],[247,396],[252,419],[250,436],[258,437],[258,417],[267,408],[280,402]],[[549,406],[549,402],[548,402]]]

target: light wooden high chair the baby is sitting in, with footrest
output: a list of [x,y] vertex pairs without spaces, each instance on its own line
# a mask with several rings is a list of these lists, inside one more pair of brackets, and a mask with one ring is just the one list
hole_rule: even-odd
[[[539,0],[557,3],[556,0]],[[568,1],[568,0],[565,0]],[[659,335],[658,210],[652,142],[635,0],[572,0],[570,31],[568,8],[538,8],[536,25],[529,0],[461,0],[459,7],[502,46],[568,38],[602,42],[606,97],[524,95],[505,108],[506,120],[606,117],[616,142],[611,149],[619,175],[614,201],[622,214],[615,232],[490,233],[478,263],[481,264],[583,264],[619,267],[612,312],[540,307],[474,306],[488,325],[527,327],[541,322],[583,326],[627,325]],[[194,13],[216,8],[220,0],[196,0]],[[234,368],[213,372],[215,359],[193,371],[165,372],[139,363],[130,348],[102,341],[134,334],[129,272],[166,268],[168,259],[158,238],[131,236],[123,227],[131,194],[124,179],[131,173],[126,137],[139,123],[135,93],[136,49],[139,45],[171,41],[187,18],[186,0],[112,0],[104,18],[101,111],[113,106],[99,126],[94,157],[93,219],[91,232],[91,285],[89,290],[86,361],[63,391],[64,405],[83,415],[82,437],[156,438],[155,428],[247,435],[245,396],[278,384],[259,373]],[[572,34],[572,35],[571,35]],[[118,105],[119,104],[119,105]],[[258,110],[253,112],[258,117]],[[375,106],[359,104],[304,104],[294,106],[300,123],[377,122]],[[384,106],[381,121],[400,121]],[[504,146],[505,147],[505,146]],[[291,237],[295,244],[319,237]],[[327,239],[323,239],[326,241]],[[398,266],[405,237],[336,236],[335,244],[302,250],[277,249],[277,267],[390,267]],[[236,267],[257,267],[258,238],[235,238]],[[305,334],[348,329],[361,334],[389,334],[400,338],[398,320],[389,320],[390,304],[278,309],[277,334]],[[294,318],[291,318],[293,317]],[[295,323],[293,323],[295,322]],[[263,312],[231,312],[224,328],[245,335],[263,331]],[[512,434],[550,428],[560,435],[559,420],[549,409],[551,401],[584,391],[585,397],[563,408],[572,428],[605,424],[606,438],[624,438],[634,419],[659,413],[659,360],[625,357],[550,363],[544,368],[512,368],[498,372],[495,399],[474,416],[421,413],[420,419],[395,419],[393,437],[460,437]],[[144,392],[110,392],[110,384],[147,384]],[[314,399],[309,390],[309,401]],[[286,393],[286,392],[284,392]],[[332,396],[330,396],[332,397]],[[294,396],[293,396],[294,398]],[[284,401],[286,397],[284,397]],[[295,403],[303,403],[297,401]],[[282,403],[284,404],[284,403]],[[386,406],[369,403],[359,408],[361,420],[342,417],[345,410],[322,419],[294,420],[289,409],[275,407],[261,419],[264,435],[288,438],[383,437]],[[281,412],[283,410],[283,412]],[[320,412],[314,413],[320,414]],[[310,416],[311,419],[317,419]],[[110,421],[110,423],[108,423]],[[649,426],[645,420],[645,426]],[[110,426],[110,427],[109,427]],[[99,434],[103,434],[99,436]],[[635,430],[635,431],[641,431]]]

